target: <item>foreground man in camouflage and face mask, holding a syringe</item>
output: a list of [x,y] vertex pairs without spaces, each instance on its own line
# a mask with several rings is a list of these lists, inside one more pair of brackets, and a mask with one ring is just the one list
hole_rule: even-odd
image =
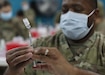
[[[51,74],[38,70],[53,75],[105,75],[105,38],[94,31],[97,15],[97,0],[63,0],[62,31],[38,39],[34,49],[8,51],[9,68],[5,75],[35,75],[35,70],[39,75]],[[41,63],[33,69],[30,63],[36,59],[44,61],[46,66]]]

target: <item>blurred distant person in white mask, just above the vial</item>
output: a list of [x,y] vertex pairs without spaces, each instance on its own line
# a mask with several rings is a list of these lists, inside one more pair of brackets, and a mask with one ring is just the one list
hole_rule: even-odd
[[24,17],[29,19],[32,27],[36,27],[36,25],[35,25],[35,13],[34,13],[34,10],[30,7],[30,4],[27,2],[27,0],[23,0],[22,10],[23,10]]

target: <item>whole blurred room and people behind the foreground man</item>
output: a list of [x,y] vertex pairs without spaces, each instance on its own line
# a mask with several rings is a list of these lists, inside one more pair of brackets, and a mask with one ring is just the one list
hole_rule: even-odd
[[[29,31],[36,40],[60,30],[61,3],[62,0],[0,0],[0,75],[7,66],[6,51],[28,45]],[[105,35],[105,0],[98,0],[98,7],[96,31]],[[23,18],[29,19],[30,30],[24,26]]]

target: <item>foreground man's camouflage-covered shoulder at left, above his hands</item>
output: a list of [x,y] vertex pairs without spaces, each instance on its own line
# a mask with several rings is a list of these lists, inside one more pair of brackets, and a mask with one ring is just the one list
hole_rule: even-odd
[[37,39],[34,42],[34,46],[35,47],[38,47],[38,46],[54,47],[60,42],[60,39],[63,39],[63,37],[64,37],[63,33],[59,31],[54,36],[48,36],[46,38]]

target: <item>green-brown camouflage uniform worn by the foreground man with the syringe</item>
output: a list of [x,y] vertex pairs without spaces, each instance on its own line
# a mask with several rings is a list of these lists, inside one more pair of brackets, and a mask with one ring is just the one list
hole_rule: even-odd
[[[62,32],[53,37],[41,38],[34,47],[56,47],[70,64],[77,68],[105,75],[105,39],[98,32],[84,43],[67,42]],[[47,72],[35,71],[32,64],[26,67],[25,75],[51,75]]]

